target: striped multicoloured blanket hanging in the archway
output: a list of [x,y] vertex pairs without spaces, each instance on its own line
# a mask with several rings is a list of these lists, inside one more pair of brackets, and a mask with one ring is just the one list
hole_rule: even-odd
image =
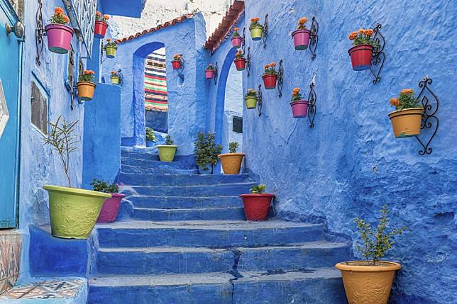
[[144,93],[146,111],[168,111],[165,55],[153,52],[145,59]]

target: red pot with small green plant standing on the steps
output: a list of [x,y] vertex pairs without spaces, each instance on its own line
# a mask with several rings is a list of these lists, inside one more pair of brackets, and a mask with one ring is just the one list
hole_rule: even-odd
[[268,209],[274,194],[265,193],[266,186],[260,184],[250,188],[249,194],[241,194],[244,205],[244,213],[247,220],[266,220]]

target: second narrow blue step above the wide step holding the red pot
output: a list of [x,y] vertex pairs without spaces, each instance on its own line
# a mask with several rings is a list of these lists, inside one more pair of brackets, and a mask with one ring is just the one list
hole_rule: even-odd
[[243,207],[238,196],[129,196],[128,201],[138,208],[190,209]]

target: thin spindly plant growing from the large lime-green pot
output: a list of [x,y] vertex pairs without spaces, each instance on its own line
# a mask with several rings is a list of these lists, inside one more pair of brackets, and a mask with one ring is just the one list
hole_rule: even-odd
[[73,133],[76,130],[76,125],[78,120],[67,123],[65,118],[60,119],[62,116],[59,116],[55,123],[51,123],[48,121],[48,125],[50,125],[50,133],[44,136],[44,145],[50,145],[51,154],[53,152],[57,152],[60,158],[60,164],[62,164],[62,168],[65,171],[65,175],[67,176],[68,186],[72,186],[72,181],[70,179],[70,155],[72,152],[77,150],[77,143],[79,142],[76,140],[76,136]]

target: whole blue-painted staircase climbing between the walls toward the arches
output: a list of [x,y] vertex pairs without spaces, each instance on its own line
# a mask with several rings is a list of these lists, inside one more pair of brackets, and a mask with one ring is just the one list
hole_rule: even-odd
[[185,157],[122,151],[119,220],[97,225],[89,303],[346,303],[334,269],[349,259],[324,225],[247,222],[247,174],[195,174]]

